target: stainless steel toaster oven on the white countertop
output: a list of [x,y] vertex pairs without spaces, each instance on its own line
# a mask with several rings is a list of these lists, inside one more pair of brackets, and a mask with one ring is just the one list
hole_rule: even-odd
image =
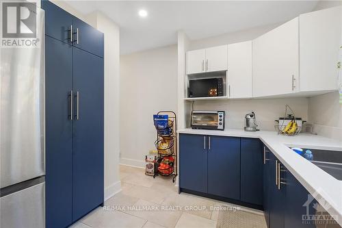
[[192,129],[224,130],[224,111],[192,111]]

